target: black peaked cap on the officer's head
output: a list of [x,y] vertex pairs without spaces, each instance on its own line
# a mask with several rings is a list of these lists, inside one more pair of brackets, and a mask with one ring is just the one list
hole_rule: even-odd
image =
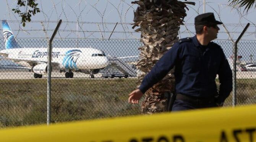
[[216,21],[213,13],[204,13],[194,18],[194,25],[205,24],[222,24],[220,21]]

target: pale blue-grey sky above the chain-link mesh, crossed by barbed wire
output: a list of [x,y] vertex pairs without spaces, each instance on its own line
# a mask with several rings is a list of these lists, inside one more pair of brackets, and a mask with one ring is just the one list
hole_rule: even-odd
[[[181,26],[180,38],[194,35],[194,17],[203,13],[203,0],[188,0],[196,5],[188,5],[189,11]],[[7,19],[16,38],[45,38],[51,36],[57,21],[62,19],[62,25],[56,38],[104,38],[108,39],[117,24],[111,39],[139,39],[140,34],[134,32],[133,11],[137,5],[132,0],[37,0],[41,13],[32,17],[32,22],[26,27],[20,24],[21,18],[11,9],[16,8],[17,0],[3,0],[0,5],[2,13],[0,19]],[[250,27],[243,39],[256,40],[255,9],[243,13],[243,9],[232,9],[227,5],[228,0],[206,0],[206,12],[213,12],[215,18],[222,21],[230,33],[228,36],[224,27],[220,25],[218,39],[233,39],[242,32],[247,23]],[[39,21],[42,21],[39,22]],[[79,24],[77,24],[77,22]],[[104,24],[102,24],[104,23]],[[44,26],[42,26],[44,25]],[[42,31],[43,27],[47,31]],[[2,33],[1,33],[1,36]]]

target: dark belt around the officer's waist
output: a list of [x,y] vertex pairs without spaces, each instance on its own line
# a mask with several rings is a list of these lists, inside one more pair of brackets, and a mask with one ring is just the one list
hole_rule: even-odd
[[192,96],[187,96],[183,94],[177,94],[176,99],[179,99],[181,101],[185,101],[192,104],[209,104],[209,103],[215,103],[214,96],[206,97],[206,98],[197,98]]

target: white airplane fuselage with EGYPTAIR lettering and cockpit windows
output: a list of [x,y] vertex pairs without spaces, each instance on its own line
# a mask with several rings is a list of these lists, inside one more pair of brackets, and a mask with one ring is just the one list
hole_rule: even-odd
[[[34,66],[26,61],[47,63],[47,48],[16,48],[1,52],[26,67]],[[57,63],[53,69],[101,69],[109,64],[109,60],[104,52],[93,48],[53,48],[52,63]]]

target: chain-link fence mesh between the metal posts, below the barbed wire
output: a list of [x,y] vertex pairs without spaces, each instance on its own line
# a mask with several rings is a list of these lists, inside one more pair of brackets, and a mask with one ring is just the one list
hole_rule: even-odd
[[[232,66],[232,42],[215,42],[222,46]],[[46,123],[47,120],[47,68],[44,65],[47,40],[18,39],[18,43],[21,48],[7,52],[1,39],[1,53],[5,52],[12,60],[0,60],[0,127]],[[137,87],[138,71],[134,65],[141,45],[138,40],[55,39],[52,44],[52,122],[141,114],[139,104],[128,104],[128,94]],[[248,66],[256,62],[255,46],[256,41],[238,44],[238,105],[256,102],[256,72],[253,72],[256,67]],[[5,58],[5,54],[2,55]],[[102,62],[105,58],[107,63]],[[218,79],[216,82],[218,84]],[[232,106],[232,93],[225,106]]]

